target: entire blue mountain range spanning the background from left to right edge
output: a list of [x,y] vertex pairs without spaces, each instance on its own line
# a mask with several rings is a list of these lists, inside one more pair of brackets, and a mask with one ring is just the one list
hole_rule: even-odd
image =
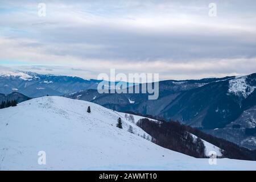
[[13,72],[0,76],[0,93],[16,91],[29,97],[49,95],[90,101],[117,111],[179,121],[242,147],[256,149],[256,73],[160,81],[158,100],[148,100],[147,93],[100,94],[96,89],[99,82],[79,77]]

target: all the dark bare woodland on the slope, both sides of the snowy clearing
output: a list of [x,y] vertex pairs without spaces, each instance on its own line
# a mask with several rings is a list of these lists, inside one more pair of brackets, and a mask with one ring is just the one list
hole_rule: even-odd
[[[152,119],[155,118],[152,117]],[[225,139],[213,137],[199,129],[182,125],[178,121],[172,121],[170,119],[168,122],[163,121],[159,124],[144,118],[140,119],[137,125],[150,134],[156,144],[196,158],[205,157],[203,156],[204,147],[201,146],[200,140],[195,143],[195,139],[191,135],[188,135],[188,133],[196,135],[198,138],[221,148],[223,158],[256,160],[256,150],[249,150]]]

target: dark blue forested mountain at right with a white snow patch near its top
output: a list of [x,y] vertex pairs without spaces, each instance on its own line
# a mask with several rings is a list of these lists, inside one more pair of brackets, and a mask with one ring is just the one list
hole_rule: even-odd
[[99,94],[89,89],[65,97],[109,109],[154,115],[196,127],[240,146],[256,149],[256,74],[203,80],[160,81],[158,100],[147,94]]

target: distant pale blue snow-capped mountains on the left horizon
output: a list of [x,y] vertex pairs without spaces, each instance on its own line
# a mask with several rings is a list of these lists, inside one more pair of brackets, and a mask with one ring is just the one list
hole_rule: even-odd
[[84,89],[96,89],[98,80],[79,77],[42,75],[22,71],[0,73],[0,93],[19,92],[28,97],[61,96]]

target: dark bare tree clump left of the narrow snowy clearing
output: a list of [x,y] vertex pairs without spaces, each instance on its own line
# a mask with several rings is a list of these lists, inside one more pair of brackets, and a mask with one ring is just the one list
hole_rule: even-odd
[[148,118],[140,119],[137,125],[150,134],[152,142],[195,158],[206,158],[205,146],[200,138],[193,138],[183,126],[177,122],[156,123]]

